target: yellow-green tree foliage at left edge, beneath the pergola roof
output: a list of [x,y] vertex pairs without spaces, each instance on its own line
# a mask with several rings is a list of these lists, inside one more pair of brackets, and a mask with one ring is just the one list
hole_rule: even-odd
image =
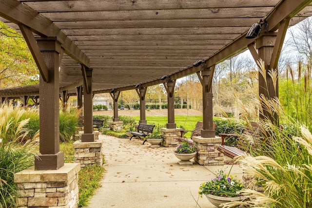
[[39,83],[39,71],[19,33],[0,21],[0,87]]

